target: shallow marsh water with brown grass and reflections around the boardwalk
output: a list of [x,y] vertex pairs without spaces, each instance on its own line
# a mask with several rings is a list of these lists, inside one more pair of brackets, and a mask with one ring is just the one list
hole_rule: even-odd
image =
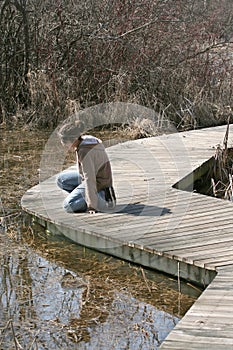
[[157,349],[201,290],[33,223],[20,199],[51,132],[0,133],[0,349]]

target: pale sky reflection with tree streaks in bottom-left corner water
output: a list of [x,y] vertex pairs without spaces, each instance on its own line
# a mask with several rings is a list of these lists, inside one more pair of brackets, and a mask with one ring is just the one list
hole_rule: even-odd
[[23,349],[71,349],[68,324],[80,315],[83,288],[63,288],[67,270],[33,251],[27,253],[2,257],[1,349],[14,348],[16,339]]

